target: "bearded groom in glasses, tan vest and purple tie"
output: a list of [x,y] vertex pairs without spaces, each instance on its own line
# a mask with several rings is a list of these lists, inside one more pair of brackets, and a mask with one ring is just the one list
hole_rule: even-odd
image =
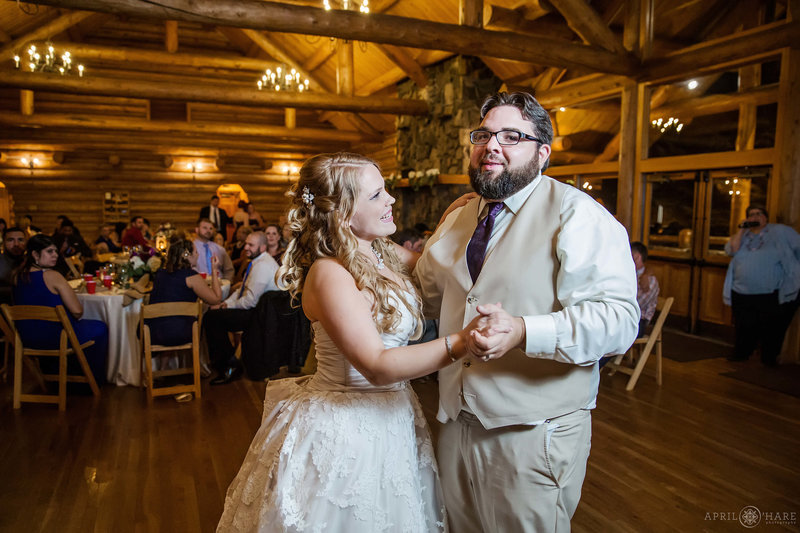
[[499,359],[439,372],[439,465],[453,531],[569,531],[591,444],[597,361],[636,338],[636,274],[625,229],[597,202],[541,171],[550,117],[526,93],[499,93],[470,134],[479,194],[447,216],[414,275],[440,336],[484,304],[473,338]]

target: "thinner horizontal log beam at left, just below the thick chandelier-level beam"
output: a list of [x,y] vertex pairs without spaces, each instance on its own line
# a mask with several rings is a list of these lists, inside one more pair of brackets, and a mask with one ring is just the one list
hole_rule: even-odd
[[184,133],[187,135],[219,135],[258,137],[282,141],[317,141],[328,138],[341,142],[379,142],[380,137],[357,131],[321,130],[319,128],[286,128],[248,124],[197,123],[178,120],[142,120],[132,118],[107,118],[92,115],[48,114],[21,115],[0,111],[0,124],[24,128],[86,128],[115,131],[153,133]]

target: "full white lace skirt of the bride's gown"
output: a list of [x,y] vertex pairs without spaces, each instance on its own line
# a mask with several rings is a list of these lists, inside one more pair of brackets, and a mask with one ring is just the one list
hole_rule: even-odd
[[218,532],[445,531],[430,432],[410,388],[314,390],[270,382]]

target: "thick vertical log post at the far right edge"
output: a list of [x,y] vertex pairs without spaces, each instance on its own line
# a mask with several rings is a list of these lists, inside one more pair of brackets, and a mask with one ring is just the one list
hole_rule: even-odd
[[768,203],[773,220],[800,229],[800,50],[781,54],[775,165]]

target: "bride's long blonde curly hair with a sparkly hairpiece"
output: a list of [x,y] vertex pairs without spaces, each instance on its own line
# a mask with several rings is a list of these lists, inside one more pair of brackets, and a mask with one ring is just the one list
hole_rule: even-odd
[[[421,300],[408,282],[408,270],[394,252],[392,241],[383,237],[372,245],[405,286],[378,273],[372,261],[359,252],[358,239],[348,224],[355,213],[361,174],[370,165],[380,170],[372,159],[348,152],[320,154],[303,164],[297,183],[287,193],[292,199],[288,216],[292,240],[276,276],[278,286],[297,298],[314,261],[335,258],[353,276],[356,287],[371,296],[372,316],[379,332],[395,332],[400,324],[401,312],[389,298],[391,293],[411,310],[418,335],[422,326]],[[309,200],[308,194],[304,199],[306,190],[313,199]]]

